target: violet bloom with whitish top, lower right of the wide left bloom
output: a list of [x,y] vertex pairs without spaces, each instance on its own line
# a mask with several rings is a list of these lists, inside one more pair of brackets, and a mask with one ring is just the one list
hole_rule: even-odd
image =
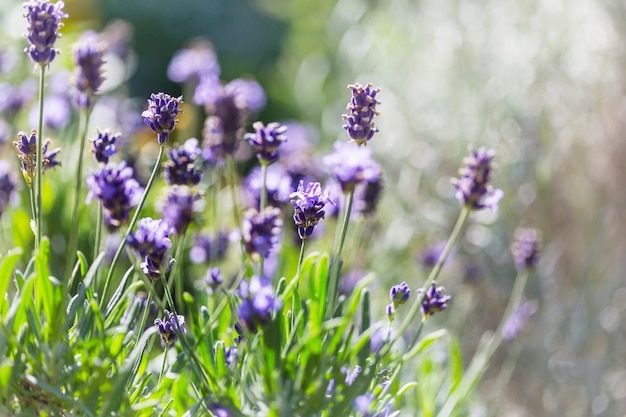
[[161,278],[165,252],[172,246],[170,229],[167,220],[146,217],[139,220],[137,230],[127,238],[130,247],[144,260],[141,263],[144,274],[155,281]]

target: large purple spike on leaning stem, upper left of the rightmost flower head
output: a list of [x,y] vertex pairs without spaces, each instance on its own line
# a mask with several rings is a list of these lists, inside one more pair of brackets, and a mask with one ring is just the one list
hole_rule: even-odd
[[491,160],[495,153],[492,150],[470,148],[470,155],[463,162],[465,167],[459,169],[461,178],[453,179],[456,188],[456,199],[470,210],[489,207],[496,211],[502,198],[502,190],[493,189],[489,184],[491,171],[494,169]]

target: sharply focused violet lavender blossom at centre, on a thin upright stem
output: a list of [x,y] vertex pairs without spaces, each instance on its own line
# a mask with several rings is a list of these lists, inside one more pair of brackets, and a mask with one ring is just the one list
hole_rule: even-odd
[[317,223],[324,218],[324,206],[334,203],[330,200],[330,190],[326,188],[322,192],[319,182],[310,182],[304,188],[304,181],[300,181],[298,189],[291,194],[291,204],[295,211],[293,221],[298,227],[300,239],[306,240],[313,234]]

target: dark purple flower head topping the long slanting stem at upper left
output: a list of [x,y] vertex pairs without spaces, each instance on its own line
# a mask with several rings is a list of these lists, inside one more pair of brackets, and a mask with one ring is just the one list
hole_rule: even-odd
[[150,126],[150,129],[157,134],[159,144],[164,144],[169,138],[169,134],[178,123],[179,113],[182,113],[180,105],[183,103],[183,96],[172,97],[165,93],[152,93],[148,99],[148,109],[141,113],[143,121]]

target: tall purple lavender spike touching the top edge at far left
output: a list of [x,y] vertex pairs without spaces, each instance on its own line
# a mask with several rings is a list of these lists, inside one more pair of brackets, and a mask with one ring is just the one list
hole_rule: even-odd
[[24,17],[28,21],[25,36],[29,43],[24,52],[36,64],[48,65],[60,52],[54,48],[54,43],[61,36],[61,19],[67,17],[62,11],[63,6],[62,1],[50,3],[45,0],[31,0],[24,3]]

